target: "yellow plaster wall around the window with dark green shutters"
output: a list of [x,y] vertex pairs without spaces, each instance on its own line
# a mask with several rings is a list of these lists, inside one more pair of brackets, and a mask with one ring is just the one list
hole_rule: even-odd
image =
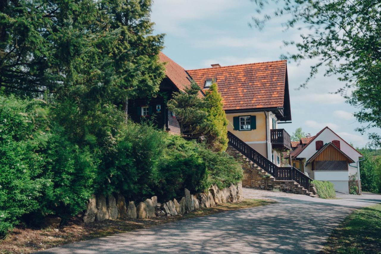
[[[233,117],[238,117],[243,115],[256,116],[256,129],[252,129],[250,131],[235,131],[234,130]],[[226,118],[227,120],[229,120],[229,125],[227,126],[227,130],[233,133],[242,141],[245,141],[245,142],[266,141],[266,117],[263,112],[226,114]]]

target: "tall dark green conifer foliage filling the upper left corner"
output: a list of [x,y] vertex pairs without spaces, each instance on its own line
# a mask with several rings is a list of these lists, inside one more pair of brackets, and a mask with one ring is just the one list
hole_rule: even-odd
[[53,93],[82,111],[151,95],[164,77],[151,1],[0,1],[0,87]]

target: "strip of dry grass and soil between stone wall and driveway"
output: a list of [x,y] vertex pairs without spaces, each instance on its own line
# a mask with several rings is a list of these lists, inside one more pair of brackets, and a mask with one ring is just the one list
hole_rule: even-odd
[[272,200],[244,199],[239,203],[225,203],[218,204],[214,208],[200,208],[184,216],[156,217],[147,220],[104,220],[90,224],[84,224],[82,219],[73,217],[67,225],[59,228],[59,232],[55,232],[50,228],[26,228],[20,225],[14,228],[5,239],[0,240],[0,253],[31,253],[62,244],[154,227],[175,220],[207,216],[219,212],[252,208],[273,203],[276,202]]

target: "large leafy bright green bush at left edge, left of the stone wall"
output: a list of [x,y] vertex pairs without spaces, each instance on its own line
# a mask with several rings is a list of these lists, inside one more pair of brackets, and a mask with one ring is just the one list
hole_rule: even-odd
[[47,215],[68,218],[94,193],[98,160],[69,141],[41,100],[0,96],[0,235]]

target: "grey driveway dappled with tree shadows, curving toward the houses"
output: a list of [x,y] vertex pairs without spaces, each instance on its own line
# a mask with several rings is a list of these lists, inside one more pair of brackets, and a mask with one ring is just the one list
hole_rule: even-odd
[[199,217],[129,233],[67,244],[38,253],[315,253],[354,209],[381,203],[381,195],[305,195],[244,189],[245,198],[279,203]]

